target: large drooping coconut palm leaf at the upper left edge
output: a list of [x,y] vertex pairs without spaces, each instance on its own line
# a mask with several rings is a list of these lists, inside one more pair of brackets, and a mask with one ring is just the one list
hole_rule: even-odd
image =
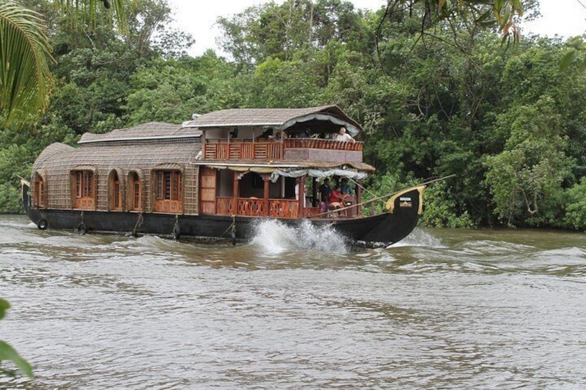
[[48,106],[51,47],[41,15],[0,0],[0,110],[2,126],[23,123]]

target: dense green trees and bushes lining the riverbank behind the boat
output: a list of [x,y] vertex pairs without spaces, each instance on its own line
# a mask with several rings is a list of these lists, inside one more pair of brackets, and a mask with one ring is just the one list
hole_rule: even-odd
[[0,131],[0,211],[19,211],[18,178],[52,142],[222,108],[337,104],[363,125],[370,196],[455,174],[427,191],[428,226],[586,230],[585,43],[519,40],[514,7],[278,1],[220,18],[224,53],[189,57],[198,37],[174,28],[163,0],[129,2],[124,30],[83,33],[48,1],[19,3],[48,21],[53,84],[44,115]]

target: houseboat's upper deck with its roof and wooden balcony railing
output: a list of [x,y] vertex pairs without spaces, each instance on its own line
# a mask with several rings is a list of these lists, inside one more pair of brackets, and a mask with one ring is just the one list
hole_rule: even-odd
[[361,130],[337,106],[221,110],[184,126],[202,131],[206,160],[362,161],[363,142],[335,139],[341,128],[352,136]]

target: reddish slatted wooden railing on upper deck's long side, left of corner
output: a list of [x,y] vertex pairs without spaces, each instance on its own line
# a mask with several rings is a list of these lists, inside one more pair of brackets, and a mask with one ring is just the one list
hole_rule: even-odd
[[281,142],[210,140],[204,144],[204,159],[283,159]]

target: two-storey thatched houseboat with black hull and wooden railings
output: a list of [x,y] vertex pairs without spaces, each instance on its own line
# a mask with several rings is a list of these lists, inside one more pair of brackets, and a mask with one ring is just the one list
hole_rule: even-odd
[[[425,185],[384,199],[362,215],[362,142],[335,136],[362,129],[337,106],[244,108],[85,133],[77,148],[55,143],[37,157],[23,204],[41,229],[247,240],[259,220],[333,228],[357,244],[388,245],[419,219]],[[342,180],[335,208],[319,186]],[[341,204],[340,204],[341,203]]]

